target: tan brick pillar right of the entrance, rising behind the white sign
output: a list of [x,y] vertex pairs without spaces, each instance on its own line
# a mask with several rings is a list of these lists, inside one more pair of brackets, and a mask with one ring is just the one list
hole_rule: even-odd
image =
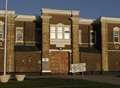
[[72,59],[73,64],[79,63],[79,17],[71,17],[72,20]]

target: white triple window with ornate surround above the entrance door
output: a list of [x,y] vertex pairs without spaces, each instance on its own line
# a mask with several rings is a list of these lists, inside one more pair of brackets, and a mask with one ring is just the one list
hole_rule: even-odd
[[[55,27],[54,32],[51,31],[51,28]],[[65,27],[68,28],[67,33],[69,35],[68,39],[65,39]],[[58,28],[61,28],[61,30]],[[51,35],[53,34],[53,39]],[[65,45],[70,45],[71,44],[71,30],[70,30],[70,25],[64,25],[62,23],[58,24],[50,24],[50,44],[55,44],[56,47],[65,47]]]

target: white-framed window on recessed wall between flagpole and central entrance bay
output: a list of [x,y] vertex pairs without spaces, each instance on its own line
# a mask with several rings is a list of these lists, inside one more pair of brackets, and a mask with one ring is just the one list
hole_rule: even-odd
[[[18,40],[18,32],[21,32],[22,39]],[[24,42],[24,28],[23,27],[16,27],[16,43],[23,43]]]

